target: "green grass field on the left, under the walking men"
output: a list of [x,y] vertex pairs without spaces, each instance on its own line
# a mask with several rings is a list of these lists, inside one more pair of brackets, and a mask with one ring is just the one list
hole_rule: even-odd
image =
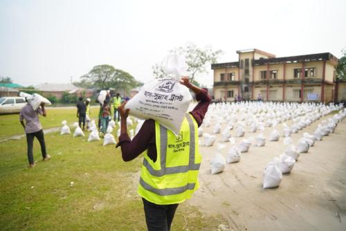
[[[51,124],[73,115],[75,110],[60,110]],[[6,115],[16,124],[17,116]],[[1,130],[11,127],[8,121],[1,124]],[[33,168],[28,168],[25,138],[0,142],[0,230],[146,230],[136,193],[143,158],[124,163],[120,149],[103,147],[102,140],[86,142],[87,134],[50,133],[45,139],[52,158],[42,161],[35,140]],[[216,230],[220,222],[182,203],[172,230]]]

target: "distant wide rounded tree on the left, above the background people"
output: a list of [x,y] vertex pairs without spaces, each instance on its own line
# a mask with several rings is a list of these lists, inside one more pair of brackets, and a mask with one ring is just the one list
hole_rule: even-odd
[[83,75],[80,84],[84,86],[93,86],[98,89],[117,89],[129,91],[130,89],[140,86],[141,82],[134,79],[132,75],[126,71],[116,69],[111,65],[94,66],[89,73]]

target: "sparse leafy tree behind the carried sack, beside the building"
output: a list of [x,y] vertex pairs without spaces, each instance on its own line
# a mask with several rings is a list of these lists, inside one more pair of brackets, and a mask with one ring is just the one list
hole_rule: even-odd
[[[197,75],[208,73],[209,65],[217,62],[217,59],[222,54],[222,50],[212,50],[211,46],[199,48],[195,44],[190,43],[184,47],[170,50],[170,53],[177,53],[185,57],[190,73],[190,81],[192,82]],[[152,66],[152,69],[154,77],[164,76],[163,69],[158,64]]]

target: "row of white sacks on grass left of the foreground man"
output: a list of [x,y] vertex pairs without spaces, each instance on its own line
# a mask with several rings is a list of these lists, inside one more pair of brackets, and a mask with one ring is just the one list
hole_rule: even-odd
[[[131,129],[129,130],[129,134],[131,139],[134,137],[135,133],[138,133],[140,127],[142,126],[144,120],[137,120],[138,124],[136,126],[136,129]],[[127,118],[127,124],[128,126],[133,125],[133,121],[130,118]],[[85,136],[84,132],[82,131],[82,129],[80,128],[80,126],[78,125],[78,122],[73,123],[72,125],[75,128],[75,131],[73,132],[73,137],[77,137],[77,136]],[[88,138],[88,142],[91,141],[98,141],[101,140],[100,136],[99,136],[99,132],[98,132],[98,128],[96,127],[95,124],[95,120],[90,120],[88,122],[88,131],[91,131],[91,133],[89,133],[89,138]],[[108,127],[107,127],[107,133],[104,135],[104,139],[103,139],[103,146],[105,145],[116,145],[116,140],[114,138],[114,136],[111,134],[113,132],[113,128],[116,127],[116,122],[114,120],[109,121]],[[62,127],[60,129],[60,135],[65,135],[65,134],[70,134],[71,130],[70,127],[67,125],[66,120],[62,121]],[[119,122],[119,129],[117,132],[117,136],[120,136],[120,122]]]

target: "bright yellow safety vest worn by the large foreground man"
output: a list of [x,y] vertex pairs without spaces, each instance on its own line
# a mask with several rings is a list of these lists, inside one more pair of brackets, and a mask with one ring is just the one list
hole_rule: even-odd
[[179,136],[155,122],[155,135],[157,159],[154,163],[144,151],[138,194],[157,205],[182,203],[199,188],[197,122],[188,113]]

